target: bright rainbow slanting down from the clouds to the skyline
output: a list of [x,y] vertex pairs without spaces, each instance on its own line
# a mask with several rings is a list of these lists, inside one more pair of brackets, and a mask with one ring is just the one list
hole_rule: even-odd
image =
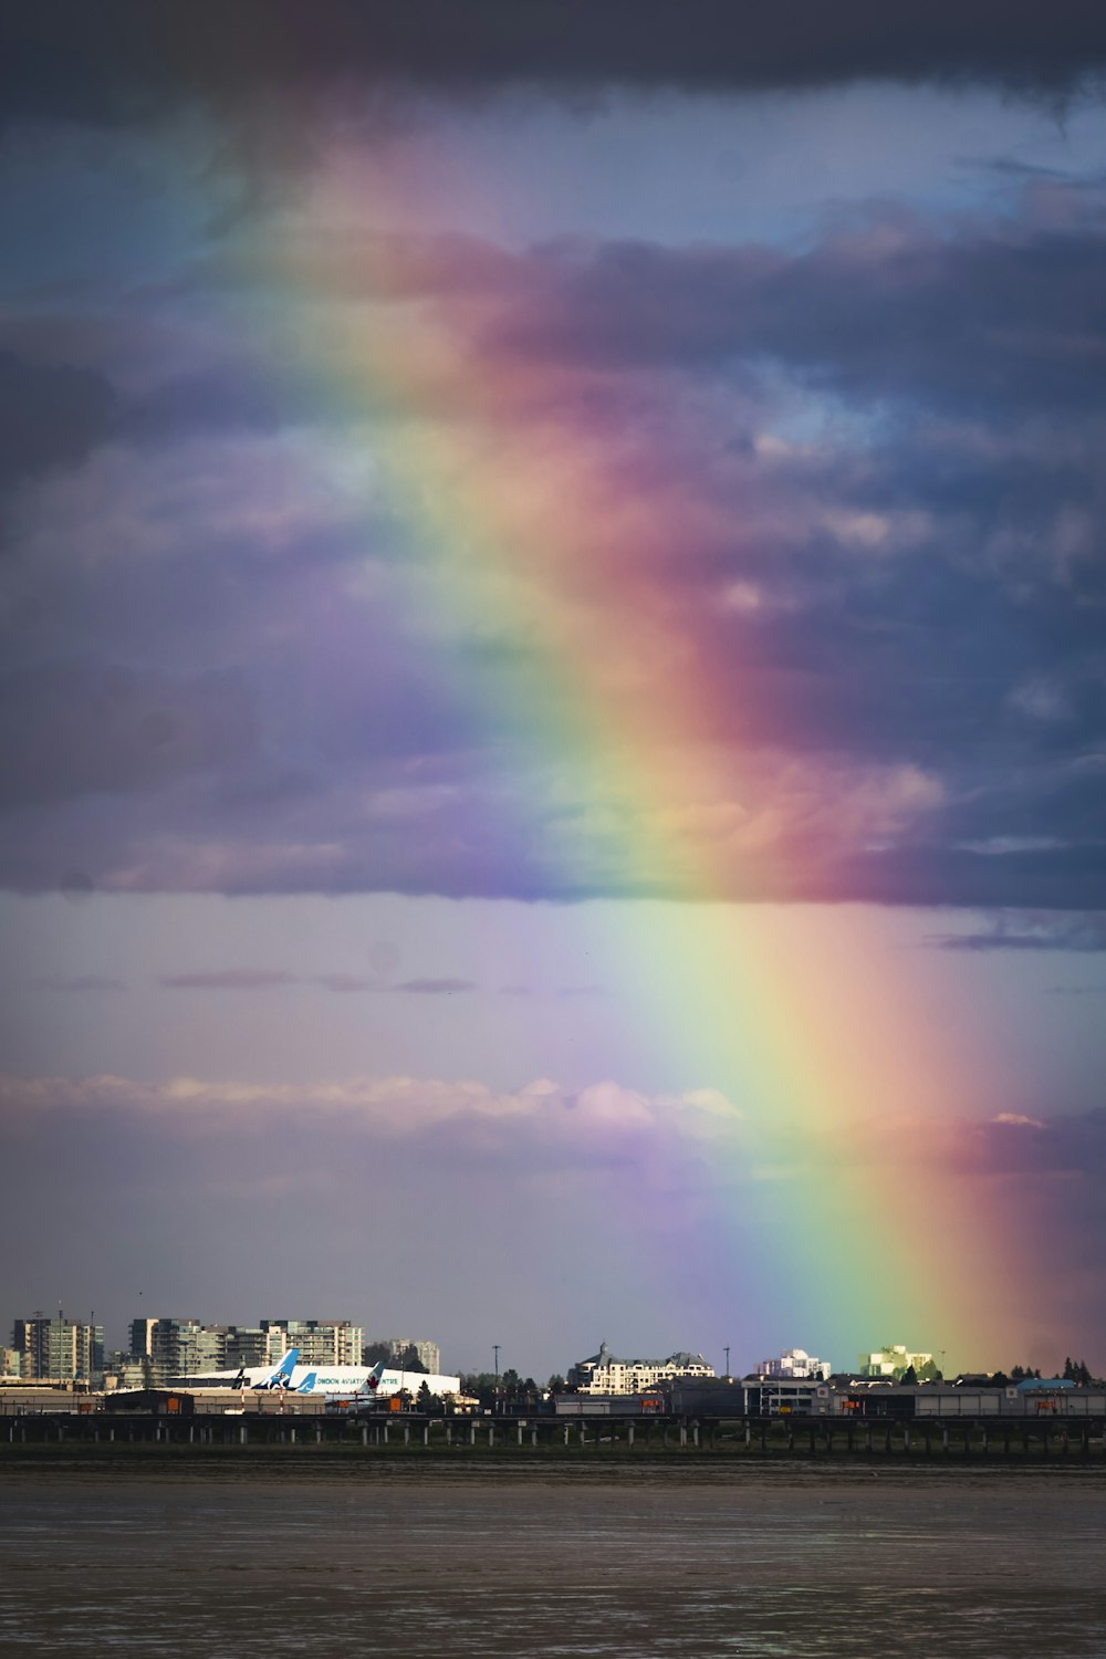
[[[718,737],[716,698],[743,695],[740,667],[696,635],[663,581],[673,546],[716,536],[710,503],[688,496],[648,435],[620,428],[602,370],[565,377],[552,357],[489,345],[491,319],[443,269],[471,251],[373,234],[391,206],[381,191],[338,169],[275,219],[262,249],[274,304],[252,327],[320,395],[361,411],[380,488],[420,547],[411,617],[496,733],[504,712],[481,707],[489,693],[449,640],[469,627],[521,642],[504,766],[552,780],[551,808],[587,803],[555,846],[516,825],[534,846],[534,888],[555,878],[587,898],[615,878],[637,893],[604,907],[599,972],[632,984],[642,1044],[663,1047],[688,1090],[731,1105],[703,1223],[711,1294],[786,1306],[794,1340],[813,1326],[831,1342],[834,1329],[867,1331],[871,1345],[905,1340],[957,1365],[1021,1352],[1000,1204],[973,1211],[940,1156],[942,1123],[970,1118],[980,1097],[985,1055],[970,1030],[925,1027],[909,952],[894,982],[866,972],[861,909],[827,904],[799,936],[778,907],[735,902],[759,898],[741,889],[749,854],[784,898],[804,893],[804,876],[786,854],[771,863],[773,825],[748,806],[753,743],[735,752]],[[320,221],[348,237],[312,249]],[[759,710],[745,695],[754,740]],[[711,917],[693,954],[686,902]],[[751,1258],[748,1231],[738,1244],[738,1166],[764,1193]],[[678,1282],[660,1258],[653,1271]]]

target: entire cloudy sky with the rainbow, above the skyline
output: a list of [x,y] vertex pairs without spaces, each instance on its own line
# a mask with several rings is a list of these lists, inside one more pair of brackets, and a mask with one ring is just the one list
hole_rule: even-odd
[[0,1317],[1106,1367],[1098,12],[0,27]]

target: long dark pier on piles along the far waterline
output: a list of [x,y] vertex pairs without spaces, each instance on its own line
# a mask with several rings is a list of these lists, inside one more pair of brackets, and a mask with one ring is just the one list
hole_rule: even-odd
[[1106,1394],[1094,1389],[910,1389],[731,1379],[680,1380],[638,1395],[551,1395],[541,1407],[476,1400],[420,1412],[400,1397],[350,1399],[227,1387],[76,1392],[0,1387],[5,1447],[274,1448],[307,1453],[715,1460],[846,1458],[939,1463],[1106,1463]]

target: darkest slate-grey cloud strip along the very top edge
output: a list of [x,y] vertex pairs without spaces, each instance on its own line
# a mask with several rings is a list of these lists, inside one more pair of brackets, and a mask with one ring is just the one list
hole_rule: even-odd
[[453,90],[950,78],[1061,93],[1106,61],[1106,18],[1091,0],[235,0],[217,12],[189,0],[15,0],[3,33],[8,114],[86,123],[386,78]]

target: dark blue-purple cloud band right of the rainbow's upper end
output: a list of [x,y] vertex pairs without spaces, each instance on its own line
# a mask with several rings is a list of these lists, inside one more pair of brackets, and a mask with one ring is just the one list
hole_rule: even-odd
[[486,345],[725,372],[769,357],[851,398],[988,418],[1101,411],[1106,236],[1089,222],[927,232],[905,216],[809,254],[650,244],[537,249]]

